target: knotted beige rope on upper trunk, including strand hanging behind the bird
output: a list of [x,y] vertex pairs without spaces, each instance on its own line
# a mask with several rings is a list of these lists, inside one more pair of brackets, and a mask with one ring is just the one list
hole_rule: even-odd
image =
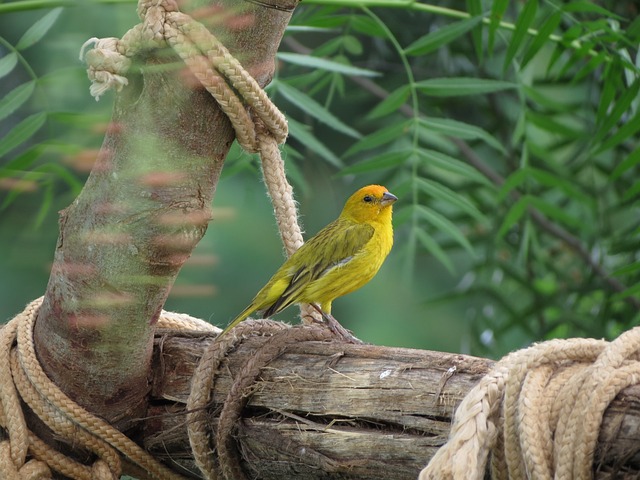
[[[138,13],[142,23],[122,39],[85,42],[80,56],[88,64],[91,94],[97,100],[110,88],[121,90],[128,83],[125,75],[131,58],[150,48],[171,47],[229,117],[242,148],[260,154],[280,235],[287,255],[291,255],[303,238],[293,189],[278,148],[287,138],[286,118],[224,45],[201,23],[179,12],[175,1],[141,0]],[[85,54],[90,45],[93,48]]]

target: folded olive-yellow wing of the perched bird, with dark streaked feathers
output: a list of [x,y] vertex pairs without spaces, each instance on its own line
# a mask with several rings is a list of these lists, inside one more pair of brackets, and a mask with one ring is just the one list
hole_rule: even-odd
[[[292,276],[280,297],[264,312],[265,317],[300,301],[305,287],[337,267],[349,263],[373,237],[368,224],[341,219],[320,230],[289,259]],[[295,257],[295,258],[294,258]]]

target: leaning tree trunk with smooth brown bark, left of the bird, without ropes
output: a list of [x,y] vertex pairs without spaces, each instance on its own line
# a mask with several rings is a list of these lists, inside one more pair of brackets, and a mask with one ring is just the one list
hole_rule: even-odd
[[[296,4],[219,0],[187,13],[264,86]],[[234,140],[176,55],[150,51],[134,60],[85,188],[61,212],[35,327],[49,377],[123,430],[144,415],[155,322],[207,229]]]

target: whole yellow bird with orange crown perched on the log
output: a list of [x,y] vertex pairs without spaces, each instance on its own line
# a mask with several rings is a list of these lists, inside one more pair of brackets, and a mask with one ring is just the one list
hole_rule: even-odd
[[268,318],[296,303],[312,304],[325,321],[335,322],[331,302],[371,280],[389,254],[396,200],[380,185],[351,195],[337,220],[291,255],[220,336],[255,311]]

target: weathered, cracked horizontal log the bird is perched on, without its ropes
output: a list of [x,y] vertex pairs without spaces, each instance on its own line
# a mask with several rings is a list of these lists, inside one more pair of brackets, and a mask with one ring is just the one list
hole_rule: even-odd
[[[212,428],[233,378],[264,339],[245,341],[220,368]],[[157,458],[197,472],[185,403],[206,336],[156,340],[145,445]],[[465,355],[374,345],[306,342],[262,370],[236,438],[249,478],[416,478],[446,441],[451,418],[492,362]],[[451,369],[455,368],[454,372]],[[640,470],[640,387],[606,412],[597,478]],[[197,474],[194,475],[197,478]],[[622,477],[616,477],[622,478]]]

